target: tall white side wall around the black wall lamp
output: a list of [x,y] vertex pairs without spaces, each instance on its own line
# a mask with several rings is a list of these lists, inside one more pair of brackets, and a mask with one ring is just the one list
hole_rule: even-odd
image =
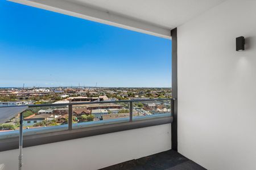
[[221,3],[177,41],[179,152],[207,169],[256,169],[256,1]]

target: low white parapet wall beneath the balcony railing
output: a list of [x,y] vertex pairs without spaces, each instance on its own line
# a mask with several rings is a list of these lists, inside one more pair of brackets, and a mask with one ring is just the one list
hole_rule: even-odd
[[[171,124],[23,149],[23,169],[99,169],[171,149]],[[0,152],[5,170],[18,169],[18,150]]]

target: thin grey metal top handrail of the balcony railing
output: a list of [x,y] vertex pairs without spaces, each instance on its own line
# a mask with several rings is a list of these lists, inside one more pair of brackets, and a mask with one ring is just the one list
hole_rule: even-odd
[[[90,101],[90,102],[71,102],[71,103],[56,103],[56,104],[28,104],[28,105],[11,105],[4,107],[55,107],[55,106],[67,106],[67,105],[84,105],[84,104],[107,104],[107,103],[129,103],[139,101],[159,101],[159,100],[176,100],[175,98],[163,98],[163,99],[138,99],[138,100],[115,100],[115,101]],[[0,107],[3,108],[3,107]]]

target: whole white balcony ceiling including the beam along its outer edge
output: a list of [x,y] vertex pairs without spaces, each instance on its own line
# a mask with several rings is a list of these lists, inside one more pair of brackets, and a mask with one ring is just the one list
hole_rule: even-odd
[[10,0],[160,37],[225,0]]

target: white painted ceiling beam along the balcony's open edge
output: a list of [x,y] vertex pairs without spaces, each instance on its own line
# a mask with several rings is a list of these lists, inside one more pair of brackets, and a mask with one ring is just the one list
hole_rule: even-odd
[[171,39],[171,29],[161,28],[156,25],[143,22],[137,19],[126,18],[108,11],[99,10],[89,6],[82,6],[65,0],[10,0],[32,7],[42,8],[44,10],[59,12],[65,15],[71,15],[82,19],[92,20],[103,24],[113,25],[130,29],[132,31],[147,33],[149,35],[159,36]]

